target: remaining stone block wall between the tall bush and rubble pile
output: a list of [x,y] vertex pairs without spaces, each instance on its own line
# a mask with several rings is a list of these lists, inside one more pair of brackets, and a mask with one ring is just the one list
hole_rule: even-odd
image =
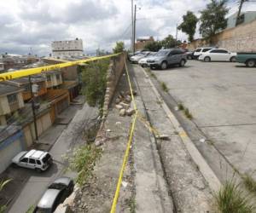
[[113,59],[110,60],[108,73],[107,73],[107,89],[106,89],[106,95],[105,95],[104,107],[103,107],[104,117],[106,117],[108,114],[108,107],[110,102],[113,99],[113,95],[114,95],[116,86],[119,82],[119,78],[125,70],[125,59],[126,59],[126,55],[121,54],[113,57]]

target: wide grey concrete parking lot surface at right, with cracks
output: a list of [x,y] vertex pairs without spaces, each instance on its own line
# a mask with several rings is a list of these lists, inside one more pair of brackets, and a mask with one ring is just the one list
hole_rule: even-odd
[[153,72],[175,103],[189,108],[194,126],[185,129],[220,180],[227,176],[227,162],[255,180],[256,68],[189,60],[185,67]]

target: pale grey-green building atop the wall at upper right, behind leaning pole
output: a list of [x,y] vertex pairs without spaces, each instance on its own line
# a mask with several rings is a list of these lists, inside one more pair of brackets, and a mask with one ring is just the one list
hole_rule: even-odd
[[[230,15],[227,19],[227,27],[226,29],[230,29],[232,27],[236,27],[236,18],[237,12],[235,14]],[[256,20],[256,11],[247,11],[240,15],[240,19],[238,20],[238,24],[247,24],[253,20]]]

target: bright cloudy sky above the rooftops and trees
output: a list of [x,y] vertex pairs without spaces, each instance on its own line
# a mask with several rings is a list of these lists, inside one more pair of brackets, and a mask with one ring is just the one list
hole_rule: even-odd
[[[210,0],[134,0],[137,4],[137,37],[162,39],[176,35],[176,25],[187,10],[204,9]],[[51,42],[82,38],[84,54],[96,49],[111,51],[116,41],[131,43],[131,0],[0,0],[0,54],[46,56]],[[230,14],[237,0],[228,3]],[[256,10],[256,2],[242,11]],[[198,32],[195,37],[200,37]],[[182,32],[177,38],[187,40]]]

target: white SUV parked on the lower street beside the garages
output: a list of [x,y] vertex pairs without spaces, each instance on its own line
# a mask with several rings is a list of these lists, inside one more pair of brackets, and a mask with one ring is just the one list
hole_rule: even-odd
[[47,170],[52,164],[52,157],[47,152],[32,149],[28,152],[18,153],[15,158],[12,159],[12,163],[20,167],[41,172]]

